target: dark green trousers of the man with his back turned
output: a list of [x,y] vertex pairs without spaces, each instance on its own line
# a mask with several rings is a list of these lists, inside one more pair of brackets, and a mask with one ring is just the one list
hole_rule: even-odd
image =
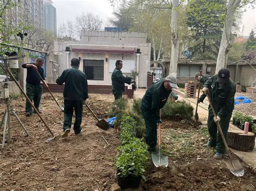
[[83,101],[69,101],[64,100],[64,124],[63,131],[71,128],[73,110],[75,109],[76,119],[74,123],[75,134],[80,133],[81,123],[82,123],[82,114],[83,114]]

